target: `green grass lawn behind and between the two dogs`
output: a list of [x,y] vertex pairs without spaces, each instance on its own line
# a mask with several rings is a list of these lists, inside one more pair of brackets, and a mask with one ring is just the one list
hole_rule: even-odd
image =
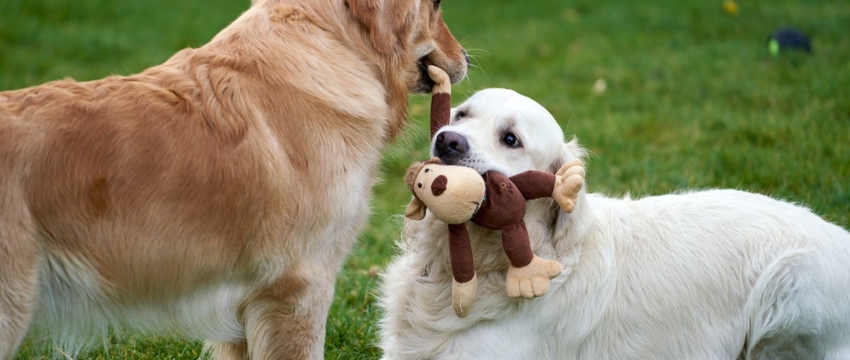
[[[0,89],[62,77],[130,74],[198,46],[248,1],[4,0]],[[513,88],[547,107],[592,152],[592,191],[633,196],[732,187],[805,203],[850,225],[850,3],[452,0],[445,18],[477,65],[455,102]],[[814,53],[771,58],[781,25],[807,32]],[[597,79],[607,90],[592,90]],[[401,177],[424,159],[427,98],[386,151],[373,216],[337,282],[328,359],[372,359],[377,280],[393,254],[408,198]],[[110,339],[81,359],[193,359],[200,344]],[[27,342],[19,359],[45,345]]]

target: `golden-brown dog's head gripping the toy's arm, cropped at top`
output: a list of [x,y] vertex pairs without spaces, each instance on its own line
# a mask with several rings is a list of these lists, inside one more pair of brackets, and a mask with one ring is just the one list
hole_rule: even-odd
[[441,0],[346,0],[374,48],[403,69],[407,89],[431,91],[428,65],[445,70],[452,83],[466,76],[469,58],[443,22]]

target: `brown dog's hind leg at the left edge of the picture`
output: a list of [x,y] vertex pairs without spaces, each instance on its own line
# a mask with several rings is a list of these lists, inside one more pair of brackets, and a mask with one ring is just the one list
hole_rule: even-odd
[[38,302],[39,246],[26,207],[0,194],[0,360],[11,359]]

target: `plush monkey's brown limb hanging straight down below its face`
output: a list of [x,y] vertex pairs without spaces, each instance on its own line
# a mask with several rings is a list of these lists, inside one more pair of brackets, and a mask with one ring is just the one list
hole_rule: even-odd
[[475,303],[478,278],[472,265],[472,247],[466,225],[449,225],[449,254],[451,255],[452,307],[458,317],[466,317]]

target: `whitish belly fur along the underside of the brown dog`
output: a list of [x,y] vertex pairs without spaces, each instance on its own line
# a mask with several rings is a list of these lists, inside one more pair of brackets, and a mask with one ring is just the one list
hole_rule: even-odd
[[100,344],[110,327],[217,342],[245,338],[236,317],[248,294],[244,284],[221,282],[180,297],[118,304],[84,259],[48,256],[43,266],[48,278],[42,281],[35,332],[57,339],[65,353]]

